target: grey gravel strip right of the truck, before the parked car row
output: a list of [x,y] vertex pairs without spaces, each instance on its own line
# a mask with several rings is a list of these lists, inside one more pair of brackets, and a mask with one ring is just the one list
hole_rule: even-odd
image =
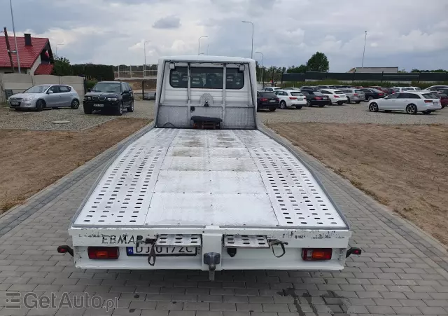
[[[367,102],[302,109],[260,111],[258,118],[265,123],[316,122],[316,123],[374,123],[374,124],[447,124],[448,108],[431,114],[409,115],[404,112],[370,112]],[[266,122],[267,121],[267,122]]]

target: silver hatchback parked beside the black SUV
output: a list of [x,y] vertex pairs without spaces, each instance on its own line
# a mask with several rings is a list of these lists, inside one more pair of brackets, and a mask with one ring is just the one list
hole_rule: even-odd
[[8,97],[8,106],[16,111],[21,109],[71,107],[78,109],[79,95],[70,85],[33,85],[28,90]]

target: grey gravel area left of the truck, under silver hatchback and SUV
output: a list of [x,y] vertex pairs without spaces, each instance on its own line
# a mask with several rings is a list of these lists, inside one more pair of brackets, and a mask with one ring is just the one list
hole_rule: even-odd
[[[115,118],[153,118],[154,101],[136,101],[134,112],[124,111],[123,116],[113,116],[110,113],[94,111],[86,115],[81,105],[79,109],[69,108],[46,109],[41,112],[33,110],[15,111],[0,107],[0,129],[10,130],[83,130],[102,124]],[[69,123],[53,123],[69,121]]]

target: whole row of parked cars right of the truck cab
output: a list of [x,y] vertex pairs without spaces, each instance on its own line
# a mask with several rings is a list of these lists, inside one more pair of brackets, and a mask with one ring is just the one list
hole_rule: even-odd
[[406,111],[409,114],[416,114],[418,111],[430,114],[448,105],[448,86],[433,85],[428,90],[421,90],[419,87],[364,88],[349,85],[265,87],[257,92],[257,100],[258,109],[269,111],[367,101],[370,111],[384,109]]

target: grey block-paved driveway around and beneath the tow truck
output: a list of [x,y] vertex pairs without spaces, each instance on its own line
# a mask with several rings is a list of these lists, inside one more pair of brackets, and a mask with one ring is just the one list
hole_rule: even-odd
[[[202,271],[74,268],[71,256],[57,254],[56,247],[71,245],[71,217],[107,161],[126,144],[0,218],[0,315],[448,315],[446,249],[302,151],[300,157],[349,219],[351,247],[363,249],[362,256],[349,257],[344,270],[223,271],[209,282]],[[36,297],[53,293],[56,303],[87,293],[116,300],[118,308],[30,309],[22,301],[21,308],[6,308],[11,298],[30,291]]]

